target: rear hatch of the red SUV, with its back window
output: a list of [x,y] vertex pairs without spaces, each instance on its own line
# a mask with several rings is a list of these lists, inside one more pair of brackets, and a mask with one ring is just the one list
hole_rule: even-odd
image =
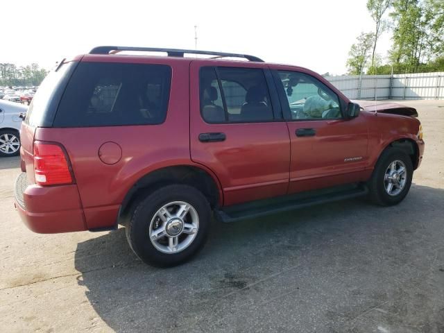
[[78,64],[79,58],[62,60],[43,80],[37,89],[31,105],[29,105],[26,118],[22,123],[20,139],[22,148],[22,171],[26,171],[28,184],[35,184],[33,169],[33,142],[35,130],[38,127],[51,127],[58,104],[62,97],[69,77]]

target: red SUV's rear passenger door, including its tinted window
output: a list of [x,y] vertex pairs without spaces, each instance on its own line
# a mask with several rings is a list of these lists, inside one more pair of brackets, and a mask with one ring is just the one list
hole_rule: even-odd
[[268,68],[191,62],[191,159],[212,169],[224,205],[287,193],[290,139]]

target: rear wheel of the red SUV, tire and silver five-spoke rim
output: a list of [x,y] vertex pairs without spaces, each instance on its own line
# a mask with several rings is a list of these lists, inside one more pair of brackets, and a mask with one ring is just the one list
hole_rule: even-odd
[[[184,214],[182,218],[180,212]],[[133,206],[126,238],[135,255],[146,264],[177,266],[205,245],[210,221],[210,204],[200,191],[188,185],[167,185]],[[154,240],[156,237],[159,238]],[[177,239],[176,243],[171,239]]]

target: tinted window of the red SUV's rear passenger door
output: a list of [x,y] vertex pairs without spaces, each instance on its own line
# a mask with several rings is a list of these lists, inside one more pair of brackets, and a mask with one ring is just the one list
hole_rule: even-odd
[[210,123],[273,120],[264,71],[203,67],[200,70],[200,110],[203,119]]

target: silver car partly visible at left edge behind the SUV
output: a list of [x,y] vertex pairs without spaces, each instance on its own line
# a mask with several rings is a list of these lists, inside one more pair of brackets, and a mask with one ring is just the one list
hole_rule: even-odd
[[19,155],[20,126],[26,114],[24,105],[0,101],[0,156]]

